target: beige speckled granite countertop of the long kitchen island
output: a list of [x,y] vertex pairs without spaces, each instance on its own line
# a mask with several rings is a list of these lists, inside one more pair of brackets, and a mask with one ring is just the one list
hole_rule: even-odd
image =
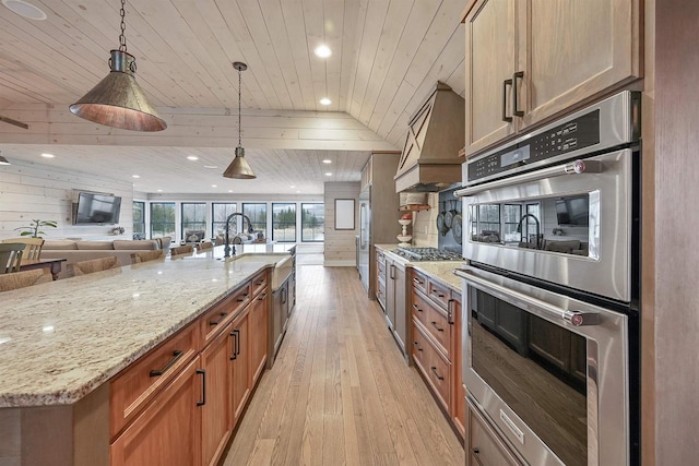
[[[246,254],[266,251],[256,246]],[[283,252],[275,246],[259,244]],[[0,407],[79,401],[279,260],[211,259],[223,247],[208,254],[2,292]]]

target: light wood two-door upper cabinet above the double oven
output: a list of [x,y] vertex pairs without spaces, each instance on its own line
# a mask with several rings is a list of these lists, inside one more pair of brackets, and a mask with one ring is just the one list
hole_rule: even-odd
[[641,76],[639,0],[479,0],[466,12],[465,154]]

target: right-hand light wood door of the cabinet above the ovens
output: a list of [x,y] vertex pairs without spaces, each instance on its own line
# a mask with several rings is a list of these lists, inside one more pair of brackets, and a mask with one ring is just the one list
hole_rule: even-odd
[[523,126],[641,75],[638,0],[525,0],[517,13]]

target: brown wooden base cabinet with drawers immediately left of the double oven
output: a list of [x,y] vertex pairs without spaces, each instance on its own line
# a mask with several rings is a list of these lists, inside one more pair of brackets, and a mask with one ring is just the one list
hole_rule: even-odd
[[464,437],[466,392],[461,378],[461,290],[415,268],[410,270],[410,283],[411,360],[457,431]]

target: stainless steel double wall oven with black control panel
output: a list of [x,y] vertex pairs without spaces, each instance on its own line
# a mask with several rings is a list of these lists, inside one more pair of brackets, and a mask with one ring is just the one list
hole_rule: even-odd
[[463,165],[464,383],[532,465],[638,463],[639,96]]

